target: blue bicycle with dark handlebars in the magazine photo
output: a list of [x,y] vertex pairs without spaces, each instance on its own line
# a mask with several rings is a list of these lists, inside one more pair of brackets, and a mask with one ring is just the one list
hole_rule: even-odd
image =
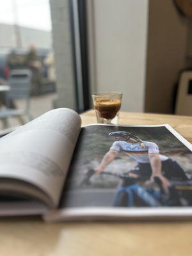
[[[95,174],[93,169],[88,170],[80,186],[91,185],[91,177]],[[154,183],[146,182],[147,177],[130,177],[129,173],[101,172],[100,175],[113,175],[122,179],[122,185],[116,189],[115,207],[133,206],[187,206],[192,204],[192,181],[173,181],[169,193],[164,193],[161,179],[155,177]]]

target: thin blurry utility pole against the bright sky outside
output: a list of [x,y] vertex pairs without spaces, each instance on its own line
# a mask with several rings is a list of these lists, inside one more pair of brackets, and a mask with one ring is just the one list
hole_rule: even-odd
[[20,37],[20,28],[18,25],[18,12],[17,12],[17,3],[15,0],[12,0],[12,10],[13,10],[13,27],[15,31],[15,42],[17,48],[22,48],[22,42]]

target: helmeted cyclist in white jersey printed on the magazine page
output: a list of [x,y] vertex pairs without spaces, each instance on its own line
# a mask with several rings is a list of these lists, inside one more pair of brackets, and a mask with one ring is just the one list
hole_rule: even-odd
[[159,154],[156,143],[142,141],[138,136],[127,131],[110,132],[109,136],[115,139],[109,151],[102,158],[99,166],[94,168],[96,174],[103,172],[116,155],[123,151],[137,162],[136,168],[129,172],[132,177],[144,177],[154,181],[158,177],[165,193],[168,193],[171,180],[188,180],[186,173],[176,161]]

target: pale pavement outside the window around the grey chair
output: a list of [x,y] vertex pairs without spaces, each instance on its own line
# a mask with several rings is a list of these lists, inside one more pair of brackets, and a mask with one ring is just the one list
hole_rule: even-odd
[[[52,100],[56,97],[56,93],[49,93],[36,97],[31,97],[31,115],[33,118],[42,115],[52,109]],[[17,100],[18,108],[24,108],[24,100]],[[10,125],[20,125],[18,118],[10,118]],[[0,120],[0,130],[3,129],[3,123]]]

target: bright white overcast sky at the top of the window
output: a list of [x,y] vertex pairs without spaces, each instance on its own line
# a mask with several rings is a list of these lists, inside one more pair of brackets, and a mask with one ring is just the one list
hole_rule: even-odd
[[51,30],[49,0],[1,0],[0,23],[14,23],[13,8],[20,26]]

